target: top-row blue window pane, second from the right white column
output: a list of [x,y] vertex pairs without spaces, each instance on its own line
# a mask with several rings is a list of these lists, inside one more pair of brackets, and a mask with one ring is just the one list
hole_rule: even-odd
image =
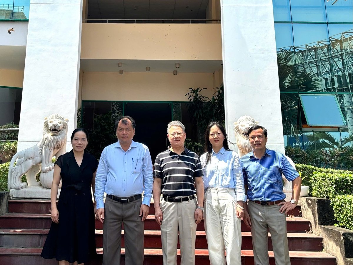
[[326,22],[325,0],[291,1],[292,21]]

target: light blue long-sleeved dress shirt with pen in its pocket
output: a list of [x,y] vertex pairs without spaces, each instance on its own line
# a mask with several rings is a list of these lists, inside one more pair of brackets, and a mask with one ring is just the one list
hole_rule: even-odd
[[144,191],[142,204],[150,205],[153,186],[153,170],[147,146],[131,142],[125,152],[119,141],[103,149],[99,160],[95,199],[97,209],[104,208],[103,195],[130,197]]

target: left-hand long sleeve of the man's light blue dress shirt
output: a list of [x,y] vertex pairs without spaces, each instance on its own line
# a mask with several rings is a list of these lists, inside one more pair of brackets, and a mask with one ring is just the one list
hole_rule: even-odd
[[97,173],[96,173],[96,184],[95,184],[95,192],[94,198],[97,202],[97,209],[104,208],[104,189],[107,183],[107,175],[108,175],[108,164],[106,160],[106,148],[103,149],[101,154],[101,158],[99,160]]

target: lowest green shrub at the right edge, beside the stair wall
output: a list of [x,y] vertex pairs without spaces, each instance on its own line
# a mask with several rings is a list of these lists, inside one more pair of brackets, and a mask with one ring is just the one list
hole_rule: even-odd
[[334,216],[340,226],[353,230],[353,196],[337,195],[331,199]]

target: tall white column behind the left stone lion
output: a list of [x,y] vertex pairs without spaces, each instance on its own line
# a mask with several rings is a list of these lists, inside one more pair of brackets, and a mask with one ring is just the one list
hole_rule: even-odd
[[82,0],[31,0],[18,151],[42,137],[44,117],[69,119],[67,150],[76,127]]

